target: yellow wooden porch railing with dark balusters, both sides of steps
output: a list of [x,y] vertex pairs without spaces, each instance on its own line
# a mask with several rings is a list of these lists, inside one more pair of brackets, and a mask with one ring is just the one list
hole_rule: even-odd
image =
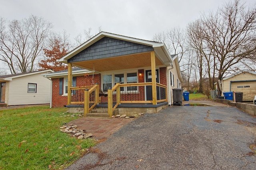
[[[153,103],[153,100],[146,100],[146,88],[152,86],[152,82],[145,83],[116,83],[113,88],[108,89],[108,114],[112,116],[114,109],[121,103]],[[158,100],[156,102],[167,102],[167,88],[165,85],[156,83]],[[84,104],[84,116],[99,103],[99,85],[72,87],[72,100],[70,104]]]

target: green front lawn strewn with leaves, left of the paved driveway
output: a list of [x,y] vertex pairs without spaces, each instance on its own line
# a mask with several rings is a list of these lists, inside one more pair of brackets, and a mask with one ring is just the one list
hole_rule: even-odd
[[92,139],[76,139],[59,129],[78,117],[49,106],[0,110],[0,170],[63,169],[80,158]]

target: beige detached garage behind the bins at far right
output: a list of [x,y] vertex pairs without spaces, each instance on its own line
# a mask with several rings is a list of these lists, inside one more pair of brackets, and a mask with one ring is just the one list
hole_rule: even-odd
[[223,92],[242,92],[242,101],[253,101],[256,95],[256,72],[240,71],[220,81]]

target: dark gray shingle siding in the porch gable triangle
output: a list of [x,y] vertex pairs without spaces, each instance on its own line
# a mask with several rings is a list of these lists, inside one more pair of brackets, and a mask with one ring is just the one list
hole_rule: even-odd
[[120,39],[114,39],[110,37],[104,37],[81,51],[74,57],[68,59],[68,63],[74,63],[78,61],[88,61],[94,59],[104,59],[108,57],[116,57],[121,55],[130,55],[135,53],[143,53],[148,51],[154,51],[153,47],[142,45],[138,43],[132,43],[123,41]]

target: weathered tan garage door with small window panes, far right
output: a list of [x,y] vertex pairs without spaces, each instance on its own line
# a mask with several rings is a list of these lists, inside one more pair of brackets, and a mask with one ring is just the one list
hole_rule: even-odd
[[256,95],[256,81],[231,82],[231,91],[243,92],[243,101],[253,101]]

